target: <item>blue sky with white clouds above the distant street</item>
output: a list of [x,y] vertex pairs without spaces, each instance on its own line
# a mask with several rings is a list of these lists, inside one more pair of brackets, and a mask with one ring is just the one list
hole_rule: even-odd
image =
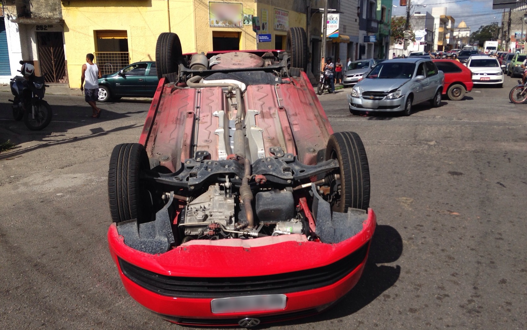
[[[393,0],[392,15],[406,15],[406,6],[399,7],[399,1]],[[501,25],[503,9],[492,10],[492,0],[412,0],[412,13],[432,13],[432,7],[446,7],[446,14],[455,20],[455,26],[465,21],[466,26],[475,32],[481,25],[497,22]],[[426,5],[414,6],[414,5]],[[505,22],[506,23],[506,22]]]

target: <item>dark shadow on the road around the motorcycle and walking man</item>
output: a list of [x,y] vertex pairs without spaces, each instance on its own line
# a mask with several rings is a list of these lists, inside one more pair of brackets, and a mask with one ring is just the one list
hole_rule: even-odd
[[[41,131],[31,131],[26,127],[23,121],[15,121],[13,119],[11,103],[0,103],[0,135],[2,139],[11,140],[11,142],[15,145],[30,141],[37,142],[36,145],[32,145],[28,148],[15,148],[11,151],[3,152],[0,155],[0,160],[13,159],[26,152],[49,147],[51,145],[66,144],[74,141],[95,138],[100,135],[110,134],[113,132],[141,127],[143,125],[142,121],[137,124],[116,126],[110,130],[105,130],[102,127],[96,127],[90,129],[91,133],[79,134],[75,137],[66,139],[63,138],[66,136],[66,134],[61,134],[86,125],[93,125],[127,118],[130,117],[129,114],[148,112],[147,110],[144,110],[128,113],[116,113],[108,110],[110,108],[106,107],[106,104],[99,104],[99,107],[103,110],[101,117],[91,118],[91,108],[86,107],[85,103],[78,105],[52,105],[53,120],[51,123]],[[116,122],[116,125],[118,124],[119,122]]]

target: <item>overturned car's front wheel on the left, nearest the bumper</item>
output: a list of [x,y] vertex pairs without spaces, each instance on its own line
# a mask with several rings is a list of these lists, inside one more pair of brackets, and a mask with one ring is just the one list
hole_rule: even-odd
[[151,196],[140,179],[149,170],[147,151],[139,143],[122,143],[113,148],[108,170],[108,201],[114,222],[150,219]]

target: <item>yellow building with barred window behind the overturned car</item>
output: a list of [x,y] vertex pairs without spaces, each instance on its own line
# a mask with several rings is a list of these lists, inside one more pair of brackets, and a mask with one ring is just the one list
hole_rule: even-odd
[[[155,61],[162,32],[177,33],[183,53],[286,47],[289,27],[306,27],[301,0],[69,0],[62,1],[70,87],[80,87],[87,53],[103,73],[129,63]],[[252,16],[266,42],[257,42]],[[262,39],[264,40],[264,39]]]

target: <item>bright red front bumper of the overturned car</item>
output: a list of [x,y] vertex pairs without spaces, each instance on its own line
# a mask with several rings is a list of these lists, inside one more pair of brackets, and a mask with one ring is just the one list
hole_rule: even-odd
[[[108,241],[124,287],[144,307],[164,315],[163,318],[174,323],[238,325],[240,319],[248,316],[261,318],[262,323],[307,316],[302,311],[314,314],[344,296],[362,275],[375,226],[375,213],[369,209],[368,218],[363,222],[363,230],[338,244],[306,241],[301,235],[289,235],[279,236],[281,239],[278,242],[277,237],[199,243],[194,241],[194,244],[183,244],[161,255],[150,255],[126,246],[114,224],[108,231]],[[286,292],[287,304],[284,309],[250,313],[213,314],[211,300],[217,296],[178,297],[155,293],[152,288],[147,289],[127,277],[119,263],[121,259],[163,276],[248,278],[330,267],[338,260],[361,250],[360,248],[365,253],[361,255],[358,266],[336,282],[298,292]]]

